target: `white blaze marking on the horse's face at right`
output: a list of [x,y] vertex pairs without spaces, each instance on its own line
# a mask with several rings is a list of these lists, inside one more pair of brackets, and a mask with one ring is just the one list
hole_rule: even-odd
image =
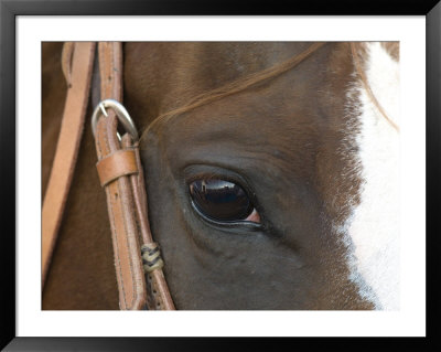
[[[366,75],[388,117],[399,126],[399,64],[379,43],[369,43]],[[399,309],[399,132],[361,88],[357,136],[361,204],[346,223],[351,279],[376,309]]]

